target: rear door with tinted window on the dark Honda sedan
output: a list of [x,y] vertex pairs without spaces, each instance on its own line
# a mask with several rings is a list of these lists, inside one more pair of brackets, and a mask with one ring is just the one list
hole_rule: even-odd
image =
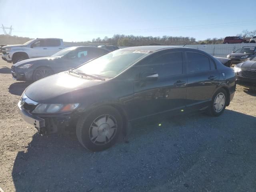
[[212,58],[199,52],[186,52],[188,76],[186,106],[198,110],[208,106],[218,86],[219,75]]

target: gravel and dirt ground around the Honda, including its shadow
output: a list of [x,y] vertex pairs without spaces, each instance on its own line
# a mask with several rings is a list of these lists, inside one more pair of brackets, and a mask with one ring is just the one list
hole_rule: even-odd
[[222,116],[134,126],[129,143],[88,152],[72,136],[40,136],[18,114],[27,83],[0,60],[0,187],[4,192],[254,192],[256,94],[237,86]]

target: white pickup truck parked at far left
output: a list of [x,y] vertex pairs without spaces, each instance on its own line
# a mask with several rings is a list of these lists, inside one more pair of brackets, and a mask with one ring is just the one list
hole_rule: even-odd
[[2,47],[2,59],[15,64],[29,58],[51,56],[62,49],[64,49],[62,39],[37,38],[23,45],[7,45]]

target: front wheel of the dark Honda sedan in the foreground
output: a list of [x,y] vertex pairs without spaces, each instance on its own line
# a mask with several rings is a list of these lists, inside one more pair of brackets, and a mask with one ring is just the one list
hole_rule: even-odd
[[116,143],[122,124],[118,110],[103,106],[80,117],[76,124],[76,136],[80,144],[90,151],[106,150]]

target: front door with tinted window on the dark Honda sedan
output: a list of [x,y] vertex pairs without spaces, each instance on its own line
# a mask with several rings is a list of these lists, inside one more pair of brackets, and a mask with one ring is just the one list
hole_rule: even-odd
[[[134,118],[179,113],[185,107],[184,53],[169,50],[160,53],[145,59],[140,66],[140,78],[134,82]],[[148,72],[156,72],[158,78],[142,78]]]

